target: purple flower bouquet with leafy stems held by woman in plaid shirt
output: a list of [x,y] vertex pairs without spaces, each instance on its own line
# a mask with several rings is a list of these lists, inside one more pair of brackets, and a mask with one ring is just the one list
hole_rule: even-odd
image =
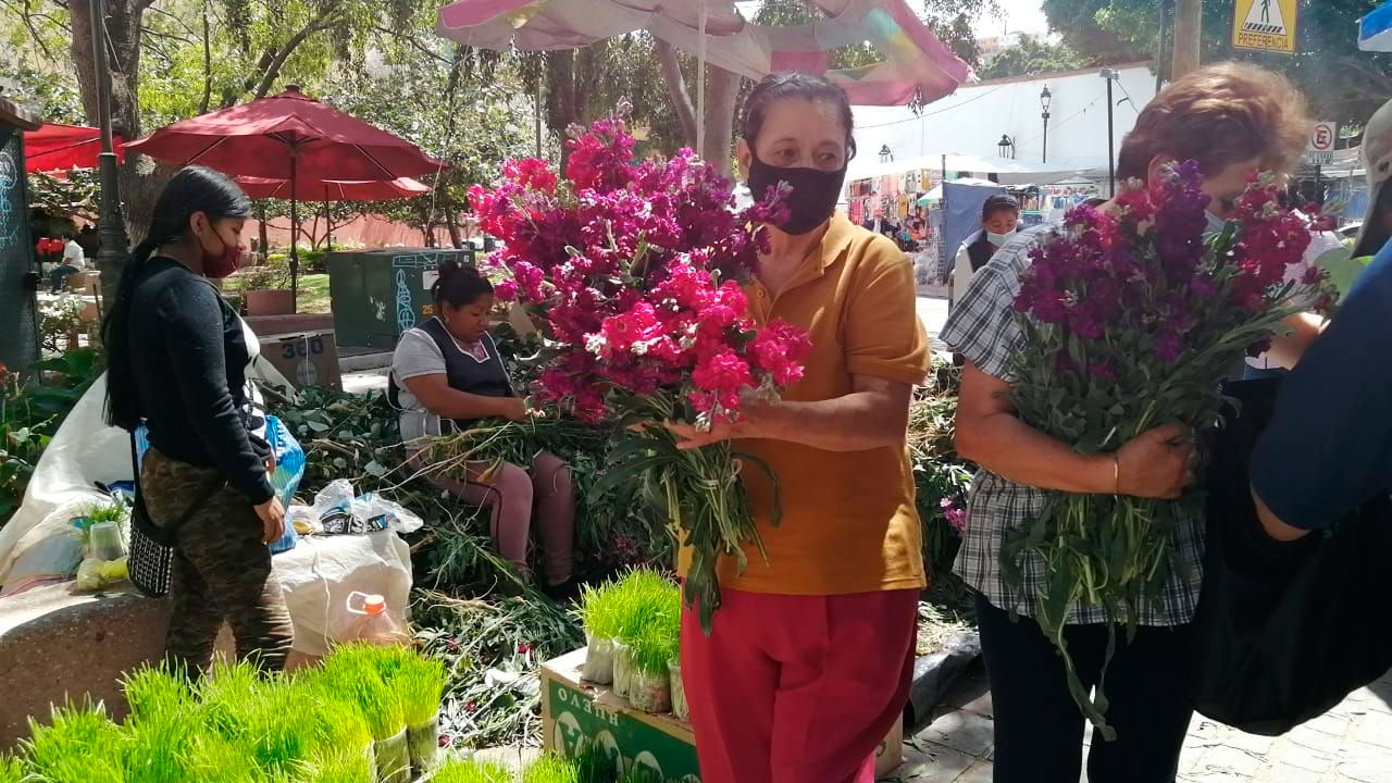
[[[1115,209],[1072,210],[1030,254],[1015,300],[1025,341],[1012,362],[1023,421],[1082,454],[1115,451],[1168,422],[1200,429],[1215,421],[1219,383],[1244,352],[1270,344],[1282,319],[1328,307],[1324,273],[1299,266],[1311,224],[1278,205],[1272,177],[1253,177],[1217,233],[1205,233],[1201,184],[1197,163],[1171,166],[1150,187],[1134,183]],[[1091,699],[1073,670],[1066,613],[1075,602],[1100,606],[1133,635],[1140,607],[1180,567],[1179,524],[1197,502],[1051,493],[1002,546],[1016,588],[1022,560],[1043,560],[1034,619],[1104,736],[1105,698]]]

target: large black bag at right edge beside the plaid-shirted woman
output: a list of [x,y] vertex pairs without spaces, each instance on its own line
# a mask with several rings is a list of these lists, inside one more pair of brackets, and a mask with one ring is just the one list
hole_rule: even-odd
[[1279,736],[1392,667],[1392,503],[1386,493],[1327,532],[1267,536],[1251,500],[1251,451],[1279,379],[1229,383],[1214,433],[1204,584],[1193,624],[1194,709]]

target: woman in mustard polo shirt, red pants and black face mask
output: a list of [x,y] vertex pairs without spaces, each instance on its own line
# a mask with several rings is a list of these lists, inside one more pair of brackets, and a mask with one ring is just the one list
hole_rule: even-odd
[[887,237],[835,212],[855,153],[851,104],[805,74],[764,78],[743,111],[739,163],[756,198],[792,185],[791,216],[748,287],[750,315],[806,329],[813,354],[781,403],[699,433],[778,475],[745,471],[767,550],[721,563],[722,606],[707,637],[682,617],[682,676],[706,783],[870,783],[874,751],[909,692],[920,522],[905,446],[909,396],[928,369],[912,269]]

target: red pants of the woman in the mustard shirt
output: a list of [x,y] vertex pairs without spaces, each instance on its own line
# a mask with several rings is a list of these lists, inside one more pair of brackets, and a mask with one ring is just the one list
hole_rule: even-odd
[[682,612],[703,783],[873,783],[909,699],[919,591],[724,591],[710,637]]

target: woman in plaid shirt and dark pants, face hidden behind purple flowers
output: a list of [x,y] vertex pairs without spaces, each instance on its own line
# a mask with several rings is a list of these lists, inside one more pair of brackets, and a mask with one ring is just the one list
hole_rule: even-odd
[[[1146,106],[1122,144],[1116,173],[1123,181],[1148,183],[1171,162],[1197,160],[1203,189],[1212,199],[1210,230],[1218,230],[1253,173],[1283,173],[1295,164],[1308,130],[1304,98],[1285,78],[1253,65],[1211,65],[1175,81]],[[1143,433],[1112,454],[1082,456],[1072,443],[1016,418],[1011,357],[1030,347],[1022,343],[1012,302],[1030,251],[1055,227],[1030,228],[1006,242],[976,273],[942,330],[942,340],[966,359],[958,451],[981,467],[972,482],[956,573],[977,591],[998,783],[1076,783],[1084,729],[1062,659],[1030,619],[1033,592],[1013,589],[1002,577],[1002,542],[1043,509],[1045,490],[1173,499],[1193,479],[1192,437],[1178,424]],[[1318,334],[1318,320],[1297,318],[1288,325],[1292,333],[1275,340],[1271,354],[1293,365]],[[1233,376],[1240,376],[1239,359],[1233,358]],[[1215,386],[1221,380],[1212,379]],[[1175,568],[1161,599],[1140,606],[1134,639],[1116,644],[1105,683],[1107,720],[1116,740],[1104,741],[1094,731],[1087,757],[1091,783],[1175,779],[1193,712],[1183,663],[1203,577],[1203,528],[1201,517],[1179,525],[1176,556],[1186,567]],[[1025,591],[1038,588],[1044,568],[1037,557],[1020,563]],[[1107,614],[1075,603],[1068,616],[1063,641],[1083,687],[1091,688],[1108,655]]]

